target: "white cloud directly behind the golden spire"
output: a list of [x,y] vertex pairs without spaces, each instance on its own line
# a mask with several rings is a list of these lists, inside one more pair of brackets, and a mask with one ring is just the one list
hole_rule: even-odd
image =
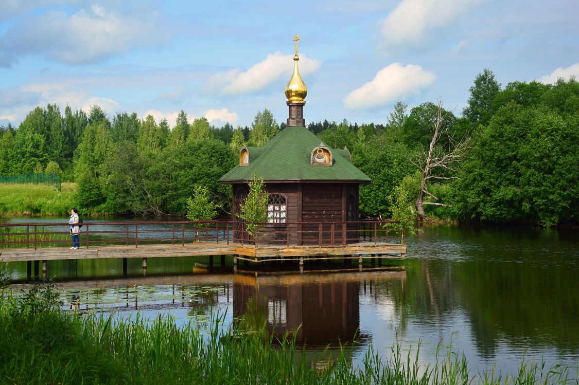
[[[317,71],[322,62],[301,55],[299,59],[300,75],[308,75]],[[280,52],[267,55],[265,60],[255,64],[247,71],[239,68],[219,72],[209,79],[207,87],[222,94],[234,95],[256,92],[280,79],[281,76],[290,80],[294,68],[294,56]]]

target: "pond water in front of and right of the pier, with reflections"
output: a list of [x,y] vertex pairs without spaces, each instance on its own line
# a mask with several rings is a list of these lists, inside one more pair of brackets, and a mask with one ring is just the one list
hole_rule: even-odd
[[[408,239],[408,254],[391,268],[357,265],[241,264],[208,269],[208,258],[49,261],[65,309],[114,312],[116,317],[164,314],[206,327],[212,312],[298,331],[312,354],[357,335],[354,358],[369,343],[388,354],[422,343],[420,359],[434,361],[438,343],[464,352],[472,373],[495,362],[516,372],[523,360],[562,360],[579,368],[579,242],[574,230],[510,227],[427,227]],[[204,265],[200,265],[204,264]],[[11,264],[24,279],[26,264]],[[22,287],[17,284],[14,288]]]

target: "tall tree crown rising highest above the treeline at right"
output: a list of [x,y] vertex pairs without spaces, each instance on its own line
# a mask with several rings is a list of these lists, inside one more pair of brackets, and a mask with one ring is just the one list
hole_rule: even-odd
[[501,84],[494,79],[494,73],[490,69],[485,68],[475,77],[474,85],[469,88],[468,107],[463,110],[463,116],[473,127],[489,123],[490,118],[497,111],[494,98],[500,90]]

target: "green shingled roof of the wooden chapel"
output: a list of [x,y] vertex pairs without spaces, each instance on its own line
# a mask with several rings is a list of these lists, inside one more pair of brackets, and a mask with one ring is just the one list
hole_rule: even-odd
[[321,143],[305,127],[285,127],[262,147],[247,147],[250,164],[235,166],[219,179],[222,183],[248,182],[258,177],[267,181],[330,181],[370,183],[371,179],[351,164],[347,150],[333,150],[332,166],[312,166],[312,150]]

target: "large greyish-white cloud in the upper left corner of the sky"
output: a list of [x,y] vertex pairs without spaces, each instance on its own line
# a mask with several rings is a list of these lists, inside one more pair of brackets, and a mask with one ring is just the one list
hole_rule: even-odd
[[66,64],[98,62],[167,42],[170,35],[163,25],[155,13],[123,15],[96,5],[74,14],[49,11],[25,18],[0,37],[0,66],[30,53]]

